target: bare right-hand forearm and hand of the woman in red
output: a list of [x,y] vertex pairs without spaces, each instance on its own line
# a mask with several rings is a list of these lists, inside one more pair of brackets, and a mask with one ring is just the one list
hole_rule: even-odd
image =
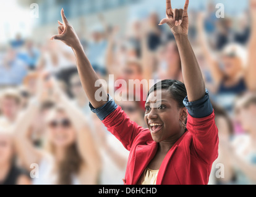
[[174,34],[181,56],[182,75],[187,89],[187,97],[189,102],[194,102],[205,95],[205,82],[188,39],[188,7],[189,0],[186,0],[184,9],[172,9],[171,0],[166,0],[166,18],[161,20],[160,25],[167,23]]

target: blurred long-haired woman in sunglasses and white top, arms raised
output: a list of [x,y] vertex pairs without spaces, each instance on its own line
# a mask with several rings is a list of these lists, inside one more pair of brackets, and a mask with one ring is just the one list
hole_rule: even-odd
[[101,161],[90,126],[54,80],[51,83],[57,104],[46,115],[45,147],[38,149],[33,145],[30,127],[45,95],[42,81],[40,76],[36,97],[30,100],[14,126],[15,146],[22,166],[31,171],[32,164],[38,165],[38,174],[35,174],[38,178],[33,179],[34,185],[98,183]]

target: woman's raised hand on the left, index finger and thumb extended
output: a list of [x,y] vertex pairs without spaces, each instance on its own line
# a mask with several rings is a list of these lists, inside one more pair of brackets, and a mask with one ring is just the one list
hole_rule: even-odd
[[69,25],[69,22],[67,21],[67,18],[64,14],[63,8],[61,9],[61,18],[62,22],[59,22],[58,26],[58,34],[51,37],[51,40],[58,39],[62,42],[64,42],[67,46],[72,47],[72,49],[76,49],[77,47],[80,47],[80,41],[75,33],[74,28]]

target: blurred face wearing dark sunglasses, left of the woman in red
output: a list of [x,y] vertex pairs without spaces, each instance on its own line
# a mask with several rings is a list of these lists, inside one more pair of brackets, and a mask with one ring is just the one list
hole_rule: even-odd
[[68,147],[75,142],[75,129],[66,113],[58,112],[48,122],[48,137],[56,147]]

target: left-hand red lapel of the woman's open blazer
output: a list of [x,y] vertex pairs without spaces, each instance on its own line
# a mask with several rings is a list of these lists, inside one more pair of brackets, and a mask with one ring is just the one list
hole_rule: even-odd
[[150,161],[155,157],[158,143],[152,142],[149,145],[138,145],[135,150],[134,172],[132,174],[132,185],[137,184]]

